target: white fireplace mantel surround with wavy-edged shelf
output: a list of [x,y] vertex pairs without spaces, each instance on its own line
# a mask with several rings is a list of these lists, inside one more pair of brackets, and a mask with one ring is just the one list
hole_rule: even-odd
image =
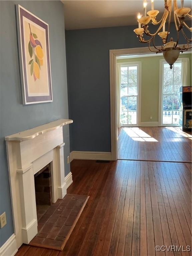
[[37,234],[34,174],[51,163],[53,203],[65,196],[66,178],[72,183],[71,173],[65,177],[64,172],[62,128],[72,122],[59,119],[5,137],[17,248]]

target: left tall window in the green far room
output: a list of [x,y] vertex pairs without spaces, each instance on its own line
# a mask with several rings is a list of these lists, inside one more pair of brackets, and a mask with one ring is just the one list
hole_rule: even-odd
[[138,125],[138,84],[140,63],[121,64],[120,123]]

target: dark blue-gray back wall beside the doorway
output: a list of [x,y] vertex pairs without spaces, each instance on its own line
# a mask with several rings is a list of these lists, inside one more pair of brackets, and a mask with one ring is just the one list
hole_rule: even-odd
[[[69,117],[74,120],[70,151],[111,151],[109,50],[147,46],[139,42],[135,28],[66,31]],[[174,24],[171,31],[176,39]],[[161,45],[158,36],[156,45]]]

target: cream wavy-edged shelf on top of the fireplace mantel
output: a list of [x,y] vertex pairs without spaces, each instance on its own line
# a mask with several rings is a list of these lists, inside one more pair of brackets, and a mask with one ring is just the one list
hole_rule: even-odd
[[19,133],[15,133],[15,134],[6,136],[5,140],[7,140],[7,141],[11,141],[11,140],[14,140],[14,141],[15,140],[16,141],[30,140],[30,139],[33,139],[33,138],[37,137],[38,135],[56,130],[56,129],[62,127],[63,125],[71,124],[71,123],[73,123],[73,120],[71,120],[71,119],[59,119],[59,120],[56,120],[54,122],[32,128],[30,130],[26,130],[26,131],[23,131],[23,132],[19,132]]

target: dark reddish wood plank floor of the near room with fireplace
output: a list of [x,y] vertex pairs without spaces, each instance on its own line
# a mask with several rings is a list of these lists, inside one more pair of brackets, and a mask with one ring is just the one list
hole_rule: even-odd
[[22,245],[17,256],[189,256],[156,252],[155,246],[191,245],[191,167],[73,160],[67,193],[90,197],[66,246],[57,251]]

